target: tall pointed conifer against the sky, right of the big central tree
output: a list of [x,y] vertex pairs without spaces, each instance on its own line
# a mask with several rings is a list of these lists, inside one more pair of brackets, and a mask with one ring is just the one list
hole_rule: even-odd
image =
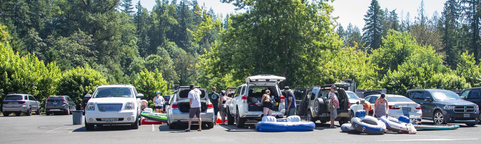
[[381,45],[383,28],[382,18],[384,16],[384,12],[382,12],[378,0],[371,1],[371,6],[369,6],[369,10],[364,16],[366,17],[364,18],[366,24],[362,29],[364,31],[363,41],[366,42],[367,47],[377,49]]

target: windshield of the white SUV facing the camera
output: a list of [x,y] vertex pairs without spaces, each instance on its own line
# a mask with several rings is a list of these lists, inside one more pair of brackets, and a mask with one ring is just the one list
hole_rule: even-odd
[[127,87],[101,87],[97,88],[92,97],[133,97],[133,95],[132,90]]

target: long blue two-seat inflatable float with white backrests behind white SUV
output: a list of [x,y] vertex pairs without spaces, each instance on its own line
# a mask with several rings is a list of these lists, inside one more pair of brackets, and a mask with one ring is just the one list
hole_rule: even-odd
[[255,129],[261,132],[307,132],[316,128],[312,121],[301,121],[299,116],[290,116],[287,119],[278,121],[275,117],[265,116],[262,121],[255,124]]

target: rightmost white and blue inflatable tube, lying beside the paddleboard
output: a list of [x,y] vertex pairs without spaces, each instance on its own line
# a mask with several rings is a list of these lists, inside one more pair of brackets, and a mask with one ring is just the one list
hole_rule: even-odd
[[410,120],[406,116],[399,116],[399,119],[382,116],[379,118],[379,120],[386,124],[386,129],[389,131],[399,133],[409,133],[411,131],[410,128],[412,124],[409,122]]

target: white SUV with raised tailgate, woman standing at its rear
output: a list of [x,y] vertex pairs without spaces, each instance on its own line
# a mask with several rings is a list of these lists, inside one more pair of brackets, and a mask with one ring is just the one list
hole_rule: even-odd
[[245,79],[245,84],[237,87],[234,96],[227,101],[227,120],[229,125],[234,124],[243,128],[246,120],[262,120],[264,110],[259,102],[266,90],[270,91],[274,98],[274,110],[272,116],[281,118],[285,113],[285,100],[278,84],[284,81],[285,77],[275,75],[257,75]]

